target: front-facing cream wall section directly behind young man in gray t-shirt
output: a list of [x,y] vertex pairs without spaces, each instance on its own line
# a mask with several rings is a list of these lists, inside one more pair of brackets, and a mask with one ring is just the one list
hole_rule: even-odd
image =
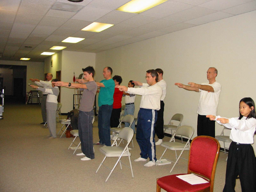
[[[61,80],[72,83],[74,72],[75,76],[78,77],[83,73],[82,68],[86,68],[87,66],[93,66],[95,68],[95,56],[95,53],[62,51]],[[74,89],[66,87],[61,88],[61,112],[67,113],[73,110],[73,94]]]

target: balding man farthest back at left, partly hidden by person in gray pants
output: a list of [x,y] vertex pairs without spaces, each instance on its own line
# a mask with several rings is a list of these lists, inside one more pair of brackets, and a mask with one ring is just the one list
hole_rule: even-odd
[[[35,82],[35,84],[39,87],[43,88],[52,88],[52,74],[48,73],[46,75],[47,81],[42,81],[39,79],[30,79],[32,82]],[[46,115],[46,99],[47,99],[48,93],[43,92],[42,93],[42,98],[41,98],[41,110],[42,110],[42,118],[43,122],[41,124],[45,124],[47,121],[47,115]]]

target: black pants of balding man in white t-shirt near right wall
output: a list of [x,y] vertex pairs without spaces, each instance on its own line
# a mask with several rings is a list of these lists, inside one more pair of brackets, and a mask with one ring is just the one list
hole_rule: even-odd
[[206,135],[215,138],[215,121],[206,118],[206,115],[197,117],[197,136]]

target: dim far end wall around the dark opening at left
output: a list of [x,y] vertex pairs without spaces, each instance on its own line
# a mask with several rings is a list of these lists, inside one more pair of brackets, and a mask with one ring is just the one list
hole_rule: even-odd
[[44,79],[44,62],[28,62],[28,61],[5,61],[0,60],[0,65],[23,65],[27,66],[26,92],[33,90],[28,83],[30,78]]

